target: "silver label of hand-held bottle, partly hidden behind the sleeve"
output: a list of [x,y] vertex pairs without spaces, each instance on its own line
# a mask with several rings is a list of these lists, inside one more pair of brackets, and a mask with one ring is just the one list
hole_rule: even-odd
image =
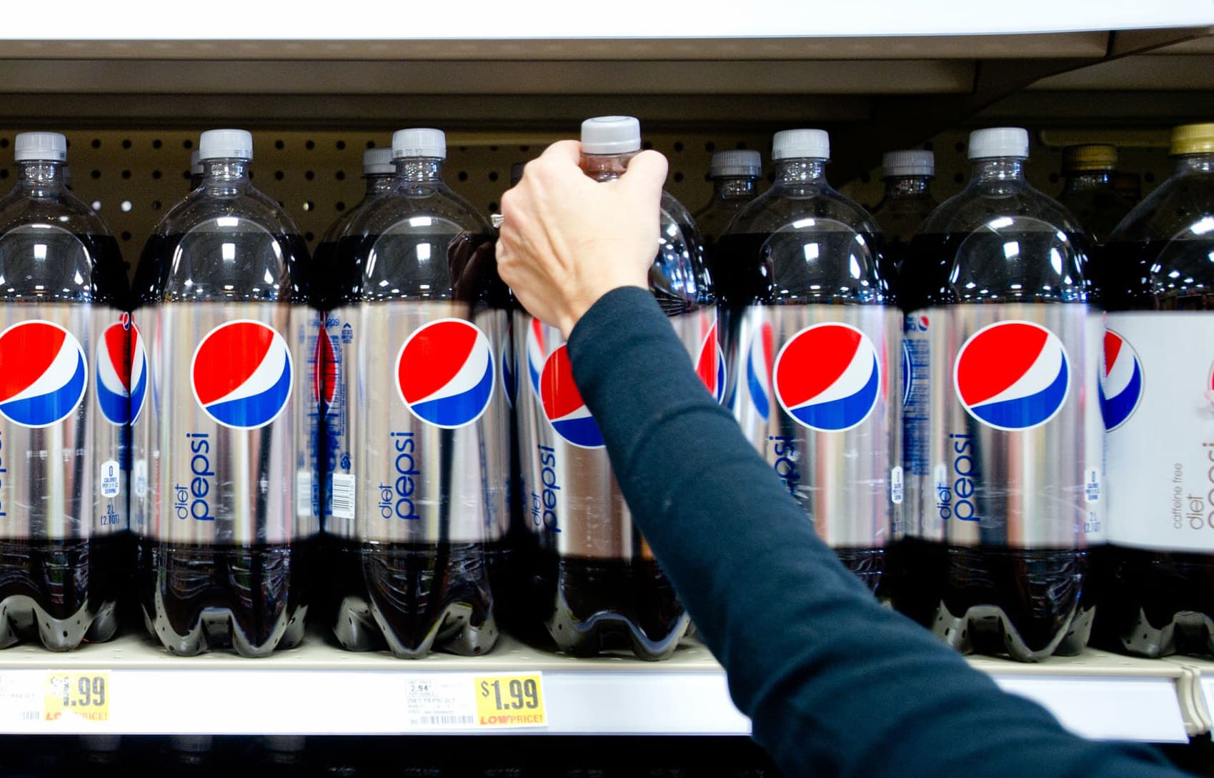
[[[515,371],[515,409],[528,529],[561,556],[652,558],[615,483],[602,431],[573,380],[561,331],[522,311],[514,317],[515,353],[523,363]],[[709,394],[722,402],[726,363],[716,312],[705,308],[670,323]]]

